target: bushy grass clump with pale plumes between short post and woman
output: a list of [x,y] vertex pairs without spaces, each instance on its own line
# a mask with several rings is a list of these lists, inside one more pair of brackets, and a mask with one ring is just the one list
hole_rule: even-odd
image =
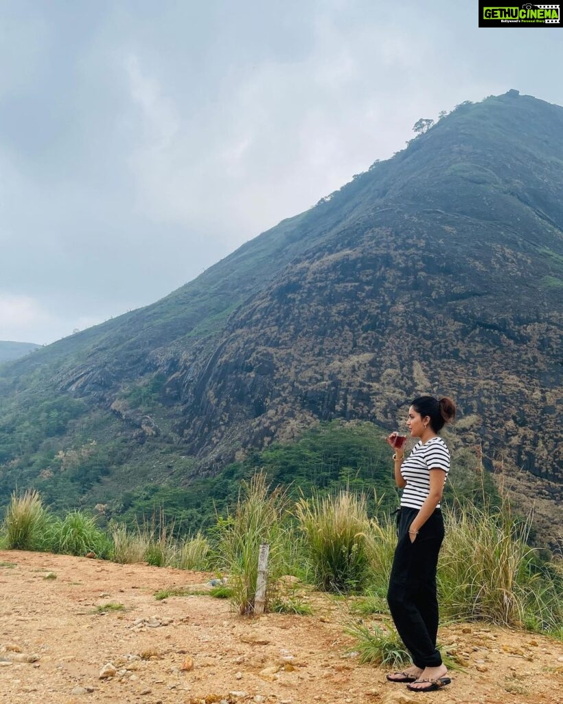
[[360,589],[370,574],[371,524],[363,494],[313,494],[296,506],[313,581],[325,591]]

